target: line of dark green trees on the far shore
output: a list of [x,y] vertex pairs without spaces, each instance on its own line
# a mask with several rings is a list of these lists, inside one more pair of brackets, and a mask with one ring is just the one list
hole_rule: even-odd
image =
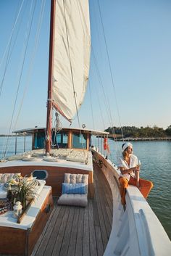
[[109,127],[105,131],[109,132],[110,134],[117,134],[127,137],[133,138],[150,138],[150,137],[167,137],[171,136],[171,125],[164,130],[164,128],[159,128],[154,125],[153,128],[146,126],[141,128],[137,128],[135,126],[122,126],[122,132],[120,127]]

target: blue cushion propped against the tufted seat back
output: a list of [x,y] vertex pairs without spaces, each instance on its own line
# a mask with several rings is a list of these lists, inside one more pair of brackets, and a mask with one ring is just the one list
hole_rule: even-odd
[[62,183],[62,194],[86,194],[86,183]]

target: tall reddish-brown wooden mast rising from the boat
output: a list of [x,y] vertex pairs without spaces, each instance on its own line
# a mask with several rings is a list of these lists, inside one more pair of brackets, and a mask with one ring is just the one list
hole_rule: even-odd
[[47,119],[46,119],[46,154],[51,150],[51,110],[52,110],[52,67],[54,62],[54,20],[55,20],[55,2],[51,0],[51,24],[49,40],[49,79],[48,79],[48,99],[47,99]]

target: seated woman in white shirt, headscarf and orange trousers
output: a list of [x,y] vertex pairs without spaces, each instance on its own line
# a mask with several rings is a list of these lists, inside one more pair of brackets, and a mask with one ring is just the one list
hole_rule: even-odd
[[133,154],[133,145],[130,142],[122,144],[122,157],[120,157],[119,168],[121,172],[119,181],[122,205],[126,203],[125,193],[128,184],[137,186],[143,197],[147,198],[153,188],[153,183],[139,178],[138,158]]

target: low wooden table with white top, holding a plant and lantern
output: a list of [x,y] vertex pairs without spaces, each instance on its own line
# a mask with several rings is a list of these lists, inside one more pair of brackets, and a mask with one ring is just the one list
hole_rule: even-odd
[[44,186],[41,194],[30,205],[21,223],[12,218],[12,211],[0,218],[0,254],[31,255],[54,207],[51,186]]

